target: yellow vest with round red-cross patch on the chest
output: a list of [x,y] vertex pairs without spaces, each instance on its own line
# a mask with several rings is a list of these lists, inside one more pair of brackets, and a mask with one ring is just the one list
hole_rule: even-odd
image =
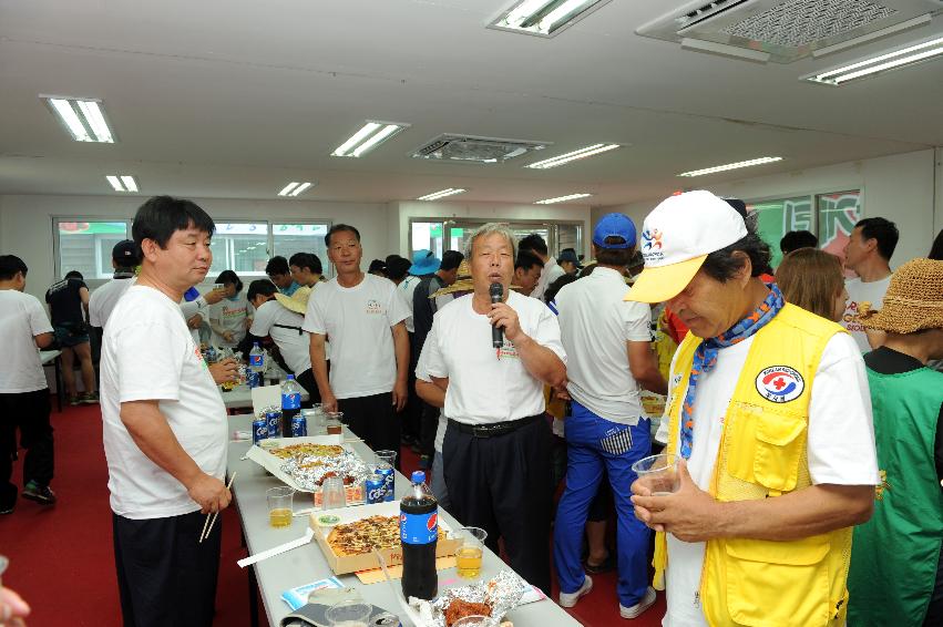
[[[807,458],[812,379],[829,339],[844,330],[792,305],[754,338],[727,408],[708,492],[721,502],[777,497],[811,485]],[[688,333],[675,361],[668,448],[678,450],[680,405],[701,339]],[[697,402],[697,401],[695,401]],[[695,425],[695,436],[697,425]],[[713,627],[840,625],[848,607],[851,527],[790,542],[707,542],[700,582]],[[655,545],[655,587],[668,563],[664,533]]]

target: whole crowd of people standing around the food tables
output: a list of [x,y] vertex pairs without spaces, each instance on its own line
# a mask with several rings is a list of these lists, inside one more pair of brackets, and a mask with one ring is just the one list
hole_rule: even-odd
[[[360,232],[336,224],[330,280],[299,251],[201,294],[214,232],[196,204],[151,198],[114,278],[90,295],[69,273],[51,319],[25,264],[0,257],[0,330],[24,364],[0,373],[0,513],[17,429],[22,496],[55,503],[38,349],[59,348],[70,403],[101,403],[126,625],[212,623],[222,534],[193,538],[232,498],[218,384],[237,366],[207,366],[201,342],[267,345],[368,446],[414,446],[440,505],[547,594],[553,563],[563,607],[616,569],[621,616],[665,589],[668,627],[943,624],[943,234],[892,271],[885,218],[860,220],[844,259],[790,233],[772,269],[746,205],[696,191],[640,232],[605,215],[585,264],[492,223],[462,251],[365,271]],[[637,481],[658,452],[674,492]]]

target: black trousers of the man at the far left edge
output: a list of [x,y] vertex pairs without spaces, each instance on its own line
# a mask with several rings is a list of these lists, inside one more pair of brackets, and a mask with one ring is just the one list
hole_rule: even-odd
[[27,450],[23,460],[23,485],[30,481],[49,485],[54,467],[52,410],[49,389],[16,394],[0,394],[0,504],[10,507],[17,501],[17,486],[10,482],[17,454],[17,428],[20,445]]

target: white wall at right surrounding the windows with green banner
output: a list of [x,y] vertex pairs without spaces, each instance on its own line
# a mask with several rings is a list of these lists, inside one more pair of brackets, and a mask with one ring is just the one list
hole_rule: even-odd
[[[717,185],[704,184],[715,194],[745,201],[783,198],[861,189],[864,217],[881,216],[898,225],[901,239],[892,266],[930,250],[943,228],[943,150],[926,150],[806,171],[757,176]],[[695,182],[691,188],[700,188]],[[604,214],[622,212],[640,228],[645,216],[663,198],[614,207],[594,207],[593,224]]]

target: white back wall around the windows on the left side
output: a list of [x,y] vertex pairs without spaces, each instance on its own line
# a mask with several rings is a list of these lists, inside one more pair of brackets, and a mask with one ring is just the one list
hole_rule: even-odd
[[[131,218],[143,197],[0,196],[0,253],[17,255],[30,273],[27,291],[42,299],[54,276],[53,216]],[[363,257],[386,257],[388,206],[352,203],[306,203],[193,198],[216,222],[227,219],[328,219],[360,230]],[[327,263],[327,259],[322,259]]]

